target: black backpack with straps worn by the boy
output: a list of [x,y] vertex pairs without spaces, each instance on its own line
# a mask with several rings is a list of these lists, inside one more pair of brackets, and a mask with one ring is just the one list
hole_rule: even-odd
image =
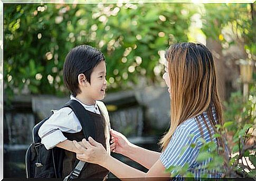
[[[69,100],[69,102],[62,106],[62,108],[63,107],[70,107],[73,110],[81,123],[84,137],[86,137],[86,139],[88,139],[89,136],[95,138],[95,127],[91,121],[91,117],[77,100]],[[50,117],[51,116],[41,120],[41,122],[36,124],[33,128],[33,143],[29,148],[27,148],[25,154],[26,178],[62,177],[64,149],[55,146],[47,150],[41,143],[41,138],[38,135],[40,126]],[[88,164],[81,161],[78,162],[78,160],[76,163],[79,163],[77,166],[82,165],[82,168],[85,168]],[[78,173],[76,168],[77,167],[73,168],[69,178],[79,178],[81,170],[79,170]]]

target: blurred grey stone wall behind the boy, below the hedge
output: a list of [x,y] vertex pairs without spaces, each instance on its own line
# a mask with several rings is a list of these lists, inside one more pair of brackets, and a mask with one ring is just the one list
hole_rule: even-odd
[[[69,96],[16,96],[11,108],[4,112],[5,143],[29,144],[33,126],[68,100]],[[141,136],[145,126],[157,130],[168,127],[170,99],[167,88],[150,86],[109,93],[102,101],[109,109],[112,127],[127,136]]]

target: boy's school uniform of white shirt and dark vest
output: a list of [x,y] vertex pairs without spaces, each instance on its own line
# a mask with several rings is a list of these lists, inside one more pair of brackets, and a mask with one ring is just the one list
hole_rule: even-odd
[[[78,99],[70,96],[70,99],[77,100],[90,114],[96,130],[97,142],[101,143],[107,153],[110,154],[110,123],[109,115],[106,106],[100,101],[96,101],[94,105],[85,105]],[[101,109],[99,109],[101,107]],[[81,142],[84,138],[82,126],[75,116],[73,110],[69,107],[64,107],[59,110],[53,110],[53,115],[39,129],[41,143],[46,149],[53,148],[64,140],[77,140]],[[69,175],[76,164],[76,154],[64,150],[65,156],[63,159],[62,177]],[[97,164],[88,163],[80,174],[80,178],[105,178],[109,171]]]

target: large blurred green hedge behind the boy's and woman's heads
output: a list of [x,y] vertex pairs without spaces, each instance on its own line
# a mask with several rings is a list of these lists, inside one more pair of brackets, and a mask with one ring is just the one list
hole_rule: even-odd
[[158,82],[165,49],[187,41],[193,13],[191,5],[167,3],[4,4],[4,93],[68,94],[64,58],[80,44],[105,54],[109,91],[139,77]]

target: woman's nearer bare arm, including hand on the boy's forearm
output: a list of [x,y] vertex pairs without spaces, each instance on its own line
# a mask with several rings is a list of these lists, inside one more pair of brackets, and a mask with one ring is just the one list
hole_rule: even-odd
[[159,159],[151,166],[147,173],[144,173],[108,155],[106,149],[91,137],[89,137],[89,142],[85,139],[82,140],[84,147],[75,141],[73,143],[77,149],[83,152],[83,154],[77,154],[78,159],[84,162],[99,164],[122,180],[127,180],[127,178],[140,178],[141,180],[141,178],[145,177],[162,177],[161,180],[167,180],[170,177],[170,174],[165,172],[165,167]]

